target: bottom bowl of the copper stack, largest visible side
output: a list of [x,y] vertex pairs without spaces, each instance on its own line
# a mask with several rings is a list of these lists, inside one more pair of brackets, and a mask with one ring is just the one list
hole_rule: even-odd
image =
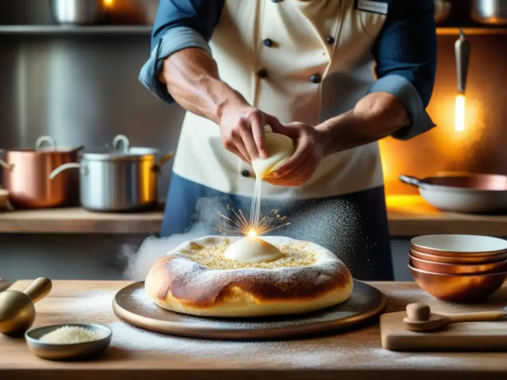
[[447,302],[477,302],[500,289],[507,272],[483,275],[445,275],[416,269],[409,264],[415,283],[433,297]]

